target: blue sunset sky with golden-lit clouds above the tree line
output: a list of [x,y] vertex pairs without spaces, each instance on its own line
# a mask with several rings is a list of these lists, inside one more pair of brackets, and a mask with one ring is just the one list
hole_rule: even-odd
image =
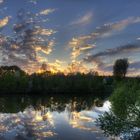
[[0,0],[0,65],[29,73],[140,74],[139,0]]

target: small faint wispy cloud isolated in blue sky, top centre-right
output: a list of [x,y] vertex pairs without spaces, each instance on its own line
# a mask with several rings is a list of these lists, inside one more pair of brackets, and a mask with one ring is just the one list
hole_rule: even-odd
[[92,18],[93,18],[93,13],[88,12],[84,16],[73,21],[70,25],[87,25],[91,22]]

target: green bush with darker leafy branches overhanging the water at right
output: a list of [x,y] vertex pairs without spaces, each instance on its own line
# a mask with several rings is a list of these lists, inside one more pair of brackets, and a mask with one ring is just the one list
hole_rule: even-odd
[[[97,120],[106,135],[120,136],[124,140],[137,140],[140,136],[140,81],[124,79],[117,83],[110,97],[111,112]],[[126,134],[126,135],[125,135]]]

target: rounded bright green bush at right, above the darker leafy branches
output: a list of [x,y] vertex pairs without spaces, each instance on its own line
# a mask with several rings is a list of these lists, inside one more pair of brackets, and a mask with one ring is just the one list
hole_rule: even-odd
[[[140,124],[140,83],[137,80],[120,82],[114,90],[110,101],[112,110],[118,117],[137,120]],[[139,125],[140,126],[140,125]]]

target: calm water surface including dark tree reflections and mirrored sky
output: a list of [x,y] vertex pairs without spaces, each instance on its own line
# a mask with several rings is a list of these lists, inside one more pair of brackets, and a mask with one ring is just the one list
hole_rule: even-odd
[[108,106],[91,96],[1,96],[0,140],[107,140],[95,120]]

